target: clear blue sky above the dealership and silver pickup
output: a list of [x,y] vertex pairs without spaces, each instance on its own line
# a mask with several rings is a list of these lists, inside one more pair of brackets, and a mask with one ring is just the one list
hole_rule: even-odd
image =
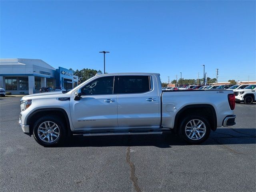
[[0,58],[256,80],[255,1],[2,1]]

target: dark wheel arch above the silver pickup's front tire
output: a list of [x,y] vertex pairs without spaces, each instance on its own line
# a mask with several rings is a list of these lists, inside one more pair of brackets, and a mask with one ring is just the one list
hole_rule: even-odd
[[64,124],[66,125],[67,134],[68,135],[71,134],[70,121],[69,121],[67,112],[62,108],[48,108],[48,109],[35,110],[34,112],[32,112],[32,114],[30,114],[28,116],[26,124],[29,125],[29,135],[33,134],[33,127],[34,127],[34,123],[36,122],[36,120],[38,120],[39,117],[46,116],[46,115],[60,117],[60,119],[63,120]]

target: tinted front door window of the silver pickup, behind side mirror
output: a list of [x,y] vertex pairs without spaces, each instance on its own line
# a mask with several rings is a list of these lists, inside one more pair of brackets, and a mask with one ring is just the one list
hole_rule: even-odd
[[114,76],[102,77],[86,84],[82,88],[83,95],[113,94]]

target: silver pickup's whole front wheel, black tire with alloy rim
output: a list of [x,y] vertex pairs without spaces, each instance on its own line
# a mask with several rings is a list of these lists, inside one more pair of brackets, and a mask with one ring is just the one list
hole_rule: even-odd
[[[45,125],[44,122],[49,123],[46,123]],[[52,127],[52,130],[48,127]],[[39,133],[42,133],[42,137],[39,136]],[[36,140],[36,142],[38,142],[38,144],[42,146],[57,146],[58,144],[62,143],[65,140],[66,135],[66,126],[64,126],[64,124],[62,123],[60,118],[58,118],[58,116],[44,116],[39,118],[34,123],[34,139]],[[42,139],[43,137],[45,138],[44,140]]]

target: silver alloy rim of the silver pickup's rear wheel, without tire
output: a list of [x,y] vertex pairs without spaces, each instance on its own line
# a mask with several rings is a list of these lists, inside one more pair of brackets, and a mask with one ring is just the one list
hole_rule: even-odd
[[206,133],[204,122],[199,119],[190,120],[185,127],[186,136],[191,140],[202,139]]

